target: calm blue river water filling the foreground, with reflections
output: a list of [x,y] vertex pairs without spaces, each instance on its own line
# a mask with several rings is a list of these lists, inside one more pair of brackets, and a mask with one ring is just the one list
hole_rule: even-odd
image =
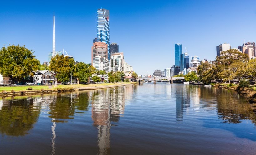
[[233,90],[152,83],[0,98],[1,155],[255,155]]

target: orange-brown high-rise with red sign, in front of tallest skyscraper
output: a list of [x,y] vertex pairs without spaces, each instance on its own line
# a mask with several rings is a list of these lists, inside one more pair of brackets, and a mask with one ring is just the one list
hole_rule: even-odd
[[92,66],[95,56],[103,56],[105,59],[108,59],[108,45],[104,42],[93,43],[91,57]]

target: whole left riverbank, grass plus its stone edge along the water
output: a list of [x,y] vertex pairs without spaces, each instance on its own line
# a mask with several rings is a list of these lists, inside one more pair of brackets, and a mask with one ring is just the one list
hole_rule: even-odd
[[46,93],[56,93],[61,91],[94,90],[94,89],[104,89],[104,88],[119,87],[119,86],[132,85],[132,84],[133,83],[131,82],[125,82],[125,83],[102,83],[102,84],[89,84],[89,85],[78,84],[78,85],[4,86],[4,87],[0,87],[0,96],[46,94]]

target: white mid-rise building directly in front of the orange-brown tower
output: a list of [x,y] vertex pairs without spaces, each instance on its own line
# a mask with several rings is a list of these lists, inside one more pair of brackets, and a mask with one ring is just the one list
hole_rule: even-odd
[[93,67],[97,70],[105,70],[106,72],[110,71],[110,63],[105,56],[95,56],[93,59]]

